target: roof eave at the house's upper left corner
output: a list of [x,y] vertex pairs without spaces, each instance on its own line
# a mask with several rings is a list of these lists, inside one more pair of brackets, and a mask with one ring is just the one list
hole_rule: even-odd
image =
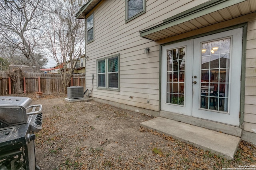
[[76,13],[77,19],[85,18],[86,14],[88,14],[101,0],[88,0],[86,4],[84,4],[80,10]]

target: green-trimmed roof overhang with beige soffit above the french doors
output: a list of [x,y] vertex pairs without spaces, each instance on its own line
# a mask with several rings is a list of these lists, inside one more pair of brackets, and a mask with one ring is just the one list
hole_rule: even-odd
[[255,0],[210,0],[140,31],[140,36],[158,41],[255,11]]

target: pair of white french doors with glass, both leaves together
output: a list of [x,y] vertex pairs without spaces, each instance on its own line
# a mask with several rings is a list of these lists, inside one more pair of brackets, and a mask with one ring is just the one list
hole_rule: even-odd
[[161,110],[239,125],[242,28],[162,47]]

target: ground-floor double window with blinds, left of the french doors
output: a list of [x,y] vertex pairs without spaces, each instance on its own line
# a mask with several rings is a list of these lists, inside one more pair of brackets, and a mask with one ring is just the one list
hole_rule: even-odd
[[119,54],[97,60],[97,88],[119,91]]

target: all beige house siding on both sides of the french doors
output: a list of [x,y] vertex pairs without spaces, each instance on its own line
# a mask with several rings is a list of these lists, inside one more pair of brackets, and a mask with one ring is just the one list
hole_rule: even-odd
[[[86,17],[94,13],[94,41],[86,44],[86,88],[90,96],[110,103],[143,108],[144,111],[160,110],[160,45],[201,33],[216,31],[244,23],[244,18],[194,30],[183,35],[151,41],[140,37],[139,31],[162,23],[180,12],[208,0],[146,0],[146,13],[125,22],[124,0],[102,0]],[[248,22],[245,69],[244,131],[250,139],[256,137],[256,19]],[[206,30],[207,29],[207,30]],[[145,54],[144,49],[150,48]],[[96,60],[120,54],[120,91],[97,89]],[[92,79],[92,74],[94,79]],[[132,98],[131,98],[132,97]],[[148,103],[149,100],[149,103]],[[150,112],[148,111],[148,113]],[[243,116],[243,114],[242,114]],[[180,117],[180,116],[177,116]],[[178,119],[178,118],[177,118]],[[226,128],[226,127],[224,127]]]

